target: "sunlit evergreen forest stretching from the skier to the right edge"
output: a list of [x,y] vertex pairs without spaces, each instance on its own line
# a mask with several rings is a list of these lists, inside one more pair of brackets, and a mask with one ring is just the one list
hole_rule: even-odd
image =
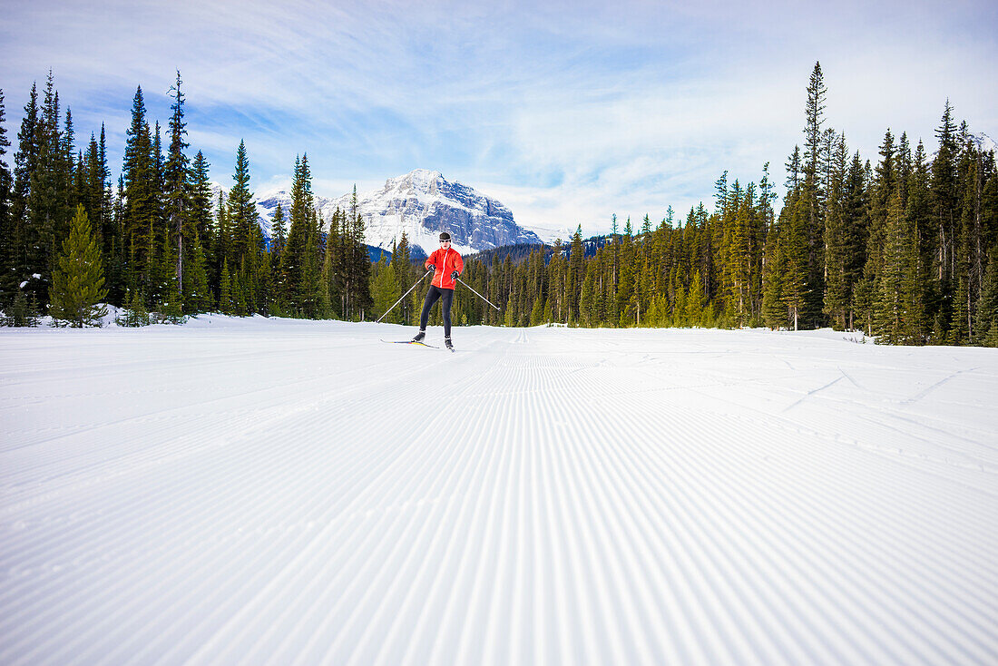
[[[461,318],[511,326],[745,327],[863,330],[880,341],[998,345],[998,174],[947,101],[929,159],[921,141],[884,135],[871,166],[824,128],[815,64],[803,150],[786,163],[778,215],[768,165],[758,185],[715,184],[676,224],[629,219],[590,257],[568,247],[525,261],[496,252],[470,262],[472,286],[499,305],[459,301]],[[512,260],[512,261],[511,261]]]

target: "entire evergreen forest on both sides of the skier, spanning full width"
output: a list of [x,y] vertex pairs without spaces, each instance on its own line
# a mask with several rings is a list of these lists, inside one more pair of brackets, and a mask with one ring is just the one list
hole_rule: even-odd
[[[355,205],[321,220],[307,156],[296,160],[292,204],[263,244],[245,146],[235,186],[210,201],[208,164],[189,164],[178,73],[169,147],[150,130],[141,89],[117,190],[100,140],[76,152],[51,75],[32,89],[13,177],[4,171],[0,307],[45,312],[77,205],[100,247],[106,300],[158,312],[375,319],[423,275],[403,237],[371,265]],[[871,165],[826,128],[819,64],[807,86],[803,147],[785,165],[779,212],[768,165],[758,184],[715,184],[714,210],[653,224],[628,219],[584,240],[504,248],[467,258],[458,324],[580,327],[754,327],[863,330],[890,343],[998,345],[998,174],[947,101],[930,158],[888,130]],[[0,114],[3,113],[0,94]],[[9,146],[0,137],[0,150]],[[285,232],[286,230],[286,232]],[[66,281],[57,281],[65,284]],[[413,324],[423,281],[385,321]]]

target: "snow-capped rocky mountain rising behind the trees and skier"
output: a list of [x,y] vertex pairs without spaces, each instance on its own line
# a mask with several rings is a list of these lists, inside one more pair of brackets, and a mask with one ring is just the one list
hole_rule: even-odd
[[[336,199],[314,195],[315,208],[328,220],[338,208],[350,208],[352,194]],[[280,204],[286,218],[291,197],[285,191],[256,201],[263,235],[269,238],[270,222]],[[391,250],[405,233],[413,250],[429,254],[437,249],[440,232],[447,231],[453,247],[462,254],[504,245],[541,243],[540,237],[513,220],[508,208],[474,188],[451,183],[438,171],[416,169],[389,178],[378,191],[357,195],[357,208],[364,220],[367,245]],[[418,252],[415,253],[418,256]]]

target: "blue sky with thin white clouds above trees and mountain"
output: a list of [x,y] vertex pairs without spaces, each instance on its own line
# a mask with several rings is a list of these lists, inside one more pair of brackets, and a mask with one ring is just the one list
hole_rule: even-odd
[[321,195],[433,169],[587,234],[710,205],[726,170],[781,184],[815,61],[827,126],[864,158],[887,128],[931,152],[947,97],[998,138],[994,2],[5,4],[8,137],[51,68],[78,140],[106,123],[116,177],[136,86],[166,126],[178,68],[213,180],[244,139],[257,193],[307,153]]

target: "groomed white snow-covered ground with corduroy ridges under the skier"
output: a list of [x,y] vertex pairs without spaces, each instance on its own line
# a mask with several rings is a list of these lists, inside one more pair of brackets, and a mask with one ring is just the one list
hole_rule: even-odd
[[0,330],[0,663],[998,663],[998,350],[411,333]]

